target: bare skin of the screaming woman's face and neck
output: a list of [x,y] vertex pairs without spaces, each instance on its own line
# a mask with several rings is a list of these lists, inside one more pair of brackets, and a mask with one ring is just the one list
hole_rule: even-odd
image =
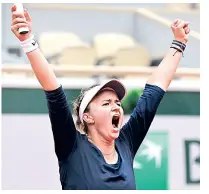
[[115,139],[120,130],[114,130],[113,115],[119,114],[120,129],[123,124],[123,109],[115,91],[104,89],[89,104],[89,112],[84,114],[84,121],[88,126],[88,139],[103,153],[108,163],[117,161],[115,158]]

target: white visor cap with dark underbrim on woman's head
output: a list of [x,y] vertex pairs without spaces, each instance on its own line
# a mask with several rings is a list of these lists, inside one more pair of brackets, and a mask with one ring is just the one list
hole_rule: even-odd
[[[80,104],[80,108],[79,108],[79,118],[81,120],[81,122],[83,123],[83,113],[86,109],[86,107],[88,106],[88,104],[91,102],[91,100],[94,98],[94,96],[101,91],[104,88],[111,88],[115,91],[115,93],[117,94],[119,100],[121,101],[125,95],[126,95],[126,88],[125,86],[118,80],[113,79],[110,81],[107,81],[101,85],[95,86],[92,89],[88,90],[84,97],[83,100]],[[83,123],[84,124],[84,123]]]

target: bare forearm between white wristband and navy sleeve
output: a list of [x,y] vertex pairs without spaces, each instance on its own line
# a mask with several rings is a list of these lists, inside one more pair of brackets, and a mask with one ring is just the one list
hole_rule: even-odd
[[27,53],[27,57],[44,90],[51,91],[60,86],[53,72],[52,66],[47,62],[39,48]]

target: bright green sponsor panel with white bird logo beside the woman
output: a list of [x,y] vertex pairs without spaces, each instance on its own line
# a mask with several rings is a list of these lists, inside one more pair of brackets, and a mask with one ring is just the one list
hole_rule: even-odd
[[137,189],[168,189],[168,132],[147,135],[134,160]]

